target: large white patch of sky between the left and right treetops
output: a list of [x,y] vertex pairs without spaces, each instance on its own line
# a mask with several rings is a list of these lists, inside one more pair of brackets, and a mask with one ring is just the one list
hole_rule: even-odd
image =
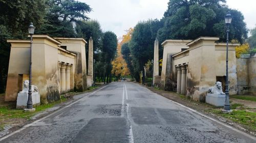
[[89,14],[101,24],[103,31],[113,31],[117,37],[134,27],[138,21],[161,19],[168,0],[80,0],[93,8]]

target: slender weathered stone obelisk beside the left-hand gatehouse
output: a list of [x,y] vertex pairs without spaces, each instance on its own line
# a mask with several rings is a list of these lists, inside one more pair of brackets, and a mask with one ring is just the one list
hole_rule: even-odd
[[93,85],[93,39],[89,39],[89,50],[88,50],[88,75],[92,76],[92,85]]

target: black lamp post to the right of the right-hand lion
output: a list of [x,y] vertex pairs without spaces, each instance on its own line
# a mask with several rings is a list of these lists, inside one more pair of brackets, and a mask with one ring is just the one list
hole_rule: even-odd
[[226,33],[227,33],[227,51],[226,51],[226,90],[225,90],[225,104],[224,104],[224,110],[229,111],[230,110],[230,104],[229,104],[229,83],[228,83],[228,33],[229,33],[229,24],[232,21],[232,17],[230,12],[227,12],[227,15],[225,16],[225,23],[226,23]]

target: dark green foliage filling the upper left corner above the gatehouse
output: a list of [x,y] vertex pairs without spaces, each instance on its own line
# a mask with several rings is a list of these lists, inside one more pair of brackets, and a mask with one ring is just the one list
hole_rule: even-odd
[[6,26],[12,37],[25,38],[30,22],[38,28],[45,21],[45,9],[44,0],[0,0],[0,25]]

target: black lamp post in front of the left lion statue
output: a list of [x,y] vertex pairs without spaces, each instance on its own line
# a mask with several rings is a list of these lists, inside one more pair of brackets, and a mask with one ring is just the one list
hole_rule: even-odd
[[32,43],[33,43],[33,34],[35,32],[35,26],[31,22],[29,25],[29,35],[30,35],[30,65],[29,65],[29,93],[28,93],[28,102],[27,109],[33,109],[32,102],[32,90],[31,90],[31,69],[32,69]]

